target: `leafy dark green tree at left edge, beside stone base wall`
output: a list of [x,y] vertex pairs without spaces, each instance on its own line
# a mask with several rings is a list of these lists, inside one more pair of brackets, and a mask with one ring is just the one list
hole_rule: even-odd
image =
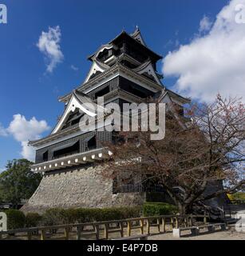
[[32,164],[26,159],[8,162],[6,170],[0,174],[0,202],[10,202],[15,208],[22,199],[29,199],[34,194],[41,174],[30,170]]

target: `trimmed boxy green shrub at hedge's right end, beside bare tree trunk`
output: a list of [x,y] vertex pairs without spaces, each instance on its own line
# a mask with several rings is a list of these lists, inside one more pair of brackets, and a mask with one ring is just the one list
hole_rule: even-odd
[[146,217],[176,214],[177,212],[178,208],[167,202],[146,202],[143,205],[143,214]]

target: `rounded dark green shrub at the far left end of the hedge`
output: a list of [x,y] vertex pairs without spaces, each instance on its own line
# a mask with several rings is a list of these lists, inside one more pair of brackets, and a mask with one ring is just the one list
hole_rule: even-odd
[[25,227],[26,216],[20,210],[6,210],[8,230],[21,229]]

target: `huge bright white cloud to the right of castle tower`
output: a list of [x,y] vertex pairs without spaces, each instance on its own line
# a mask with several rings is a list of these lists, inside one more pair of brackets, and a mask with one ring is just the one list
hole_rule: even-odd
[[164,75],[178,77],[179,93],[207,102],[218,92],[245,95],[245,24],[235,22],[238,4],[245,5],[245,0],[229,2],[207,34],[164,58]]

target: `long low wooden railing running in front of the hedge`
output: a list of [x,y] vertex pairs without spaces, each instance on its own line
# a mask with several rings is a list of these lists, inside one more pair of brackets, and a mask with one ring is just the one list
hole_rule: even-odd
[[[66,224],[57,226],[40,226],[24,228],[18,230],[8,230],[0,232],[0,240],[4,238],[20,238],[32,240],[52,239],[57,234],[61,235],[58,239],[77,239],[90,237],[91,239],[109,239],[109,234],[119,233],[121,238],[130,237],[132,230],[139,230],[140,234],[151,234],[151,228],[156,227],[158,233],[166,232],[166,226],[171,228],[182,226],[192,226],[193,221],[199,218],[204,223],[207,222],[207,215],[161,215],[142,218],[128,218],[106,222],[88,222],[78,224]],[[59,231],[59,232],[58,232]],[[75,235],[75,237],[74,237]],[[93,237],[93,238],[92,238]]]

